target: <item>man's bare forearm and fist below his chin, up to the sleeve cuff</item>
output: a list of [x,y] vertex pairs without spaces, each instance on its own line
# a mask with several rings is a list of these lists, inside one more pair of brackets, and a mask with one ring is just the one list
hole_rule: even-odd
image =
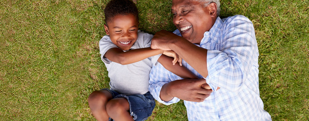
[[151,44],[153,49],[174,50],[198,73],[207,77],[207,49],[165,30],[157,32],[152,41],[155,41]]

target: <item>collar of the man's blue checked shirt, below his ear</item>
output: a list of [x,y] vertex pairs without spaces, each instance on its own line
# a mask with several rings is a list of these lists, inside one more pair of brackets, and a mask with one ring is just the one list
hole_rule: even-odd
[[[209,31],[204,32],[204,38],[210,36],[211,40],[218,44],[218,37],[220,36],[220,28],[223,25],[223,21],[220,17],[217,17],[216,21],[214,22],[214,25],[210,28]],[[209,35],[210,34],[210,35]],[[202,43],[205,42],[206,39],[202,39]]]

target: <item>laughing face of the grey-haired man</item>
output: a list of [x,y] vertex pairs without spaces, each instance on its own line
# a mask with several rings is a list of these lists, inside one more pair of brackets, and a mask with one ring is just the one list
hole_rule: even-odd
[[205,31],[209,31],[214,22],[207,7],[193,0],[173,0],[171,12],[173,22],[182,37],[191,43],[200,43]]

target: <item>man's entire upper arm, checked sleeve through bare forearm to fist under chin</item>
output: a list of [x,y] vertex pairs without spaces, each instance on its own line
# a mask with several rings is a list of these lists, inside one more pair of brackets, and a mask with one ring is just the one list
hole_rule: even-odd
[[[156,33],[151,47],[174,50],[206,79],[215,90],[221,87],[238,91],[247,79],[253,64],[257,64],[258,50],[252,22],[236,16],[226,26],[220,50],[206,50],[167,31]],[[208,76],[208,73],[211,74]]]

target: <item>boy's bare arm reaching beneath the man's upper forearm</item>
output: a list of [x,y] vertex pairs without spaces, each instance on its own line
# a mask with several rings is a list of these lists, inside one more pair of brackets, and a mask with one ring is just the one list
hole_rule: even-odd
[[180,76],[184,79],[198,79],[197,76],[195,76],[191,71],[189,71],[186,67],[180,66],[180,64],[177,62],[175,65],[171,63],[173,61],[173,58],[168,57],[166,55],[161,55],[158,59],[158,62],[162,64],[164,68],[166,68],[168,71],[171,71],[172,73]]

